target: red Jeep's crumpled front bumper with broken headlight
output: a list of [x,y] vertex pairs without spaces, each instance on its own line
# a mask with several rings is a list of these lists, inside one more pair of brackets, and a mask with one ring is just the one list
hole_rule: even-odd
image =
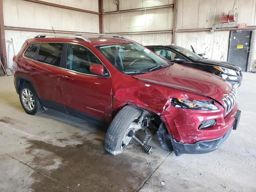
[[162,148],[181,154],[202,154],[219,148],[237,127],[240,111],[237,104],[227,116],[213,100],[170,98],[161,114],[157,132]]

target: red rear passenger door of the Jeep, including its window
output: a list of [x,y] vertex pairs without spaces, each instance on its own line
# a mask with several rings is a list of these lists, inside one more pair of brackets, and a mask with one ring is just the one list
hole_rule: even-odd
[[60,87],[64,63],[61,55],[64,43],[42,43],[35,60],[30,62],[28,74],[44,106],[65,111]]

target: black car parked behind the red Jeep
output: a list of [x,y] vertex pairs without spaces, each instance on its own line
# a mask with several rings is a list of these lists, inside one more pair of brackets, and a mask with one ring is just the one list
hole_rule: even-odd
[[238,88],[242,83],[242,69],[234,64],[204,58],[176,45],[146,47],[166,60],[218,75],[230,82],[235,88]]

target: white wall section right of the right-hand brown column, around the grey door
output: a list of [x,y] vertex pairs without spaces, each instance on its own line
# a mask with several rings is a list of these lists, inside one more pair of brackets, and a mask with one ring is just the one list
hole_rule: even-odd
[[[256,26],[256,0],[178,0],[177,30],[205,29],[220,25],[222,12],[228,14],[233,8],[238,10],[237,23]],[[234,26],[232,26],[234,27]],[[207,58],[226,61],[230,31],[178,32],[176,44],[197,53],[204,53]],[[256,64],[255,36],[252,40],[250,70]]]

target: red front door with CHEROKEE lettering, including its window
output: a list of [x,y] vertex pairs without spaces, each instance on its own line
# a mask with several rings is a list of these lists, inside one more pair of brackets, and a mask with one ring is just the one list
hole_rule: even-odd
[[[91,64],[101,61],[85,46],[67,45],[66,73],[61,78],[66,111],[86,118],[86,114],[110,121],[112,96],[110,76],[90,73]],[[107,73],[107,71],[106,71]]]

